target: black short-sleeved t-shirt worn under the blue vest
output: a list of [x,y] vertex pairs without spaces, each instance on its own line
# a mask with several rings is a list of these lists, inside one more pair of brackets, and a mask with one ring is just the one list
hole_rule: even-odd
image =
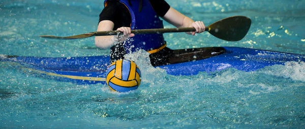
[[[159,17],[163,17],[170,8],[164,0],[149,0],[149,3]],[[103,20],[112,21],[114,23],[113,30],[122,26],[130,27],[131,24],[129,10],[125,5],[119,3],[117,0],[108,1],[108,5],[100,14],[100,21]]]

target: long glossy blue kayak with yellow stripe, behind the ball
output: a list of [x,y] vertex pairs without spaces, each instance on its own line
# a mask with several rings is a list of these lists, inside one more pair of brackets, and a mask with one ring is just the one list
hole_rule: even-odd
[[[285,62],[305,62],[305,55],[257,50],[239,47],[221,48],[222,53],[209,53],[208,57],[188,60],[187,62],[159,65],[171,75],[196,75],[198,72],[215,72],[227,68],[242,71],[255,71],[266,66],[284,65]],[[204,49],[204,48],[202,48]],[[186,54],[194,54],[195,52]],[[183,55],[183,54],[182,54]],[[2,61],[13,61],[24,65],[32,72],[44,74],[63,81],[78,84],[105,83],[105,73],[109,56],[88,57],[21,57],[7,56]]]

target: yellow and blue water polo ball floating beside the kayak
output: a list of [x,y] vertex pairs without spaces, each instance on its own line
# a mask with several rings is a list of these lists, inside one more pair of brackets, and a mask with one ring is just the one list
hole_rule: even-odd
[[116,92],[136,90],[141,83],[141,71],[132,61],[117,60],[107,70],[106,83]]

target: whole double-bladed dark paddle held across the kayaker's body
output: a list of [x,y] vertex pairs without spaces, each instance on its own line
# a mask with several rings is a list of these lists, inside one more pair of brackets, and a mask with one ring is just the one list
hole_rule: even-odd
[[[251,26],[251,19],[245,16],[233,16],[222,20],[219,20],[213,24],[210,24],[205,28],[210,34],[227,41],[238,41],[246,36]],[[195,28],[162,28],[162,29],[138,29],[131,30],[134,34],[144,33],[169,33],[169,32],[192,32],[196,31]],[[85,34],[79,34],[74,36],[60,37],[52,35],[41,35],[40,37],[51,39],[78,39],[91,36],[106,36],[122,34],[121,31],[96,31]]]

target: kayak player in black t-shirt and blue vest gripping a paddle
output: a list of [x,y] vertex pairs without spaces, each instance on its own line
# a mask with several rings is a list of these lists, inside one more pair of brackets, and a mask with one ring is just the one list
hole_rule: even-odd
[[123,59],[127,53],[143,49],[150,53],[153,66],[162,65],[171,50],[166,47],[163,34],[134,34],[132,29],[163,28],[159,18],[176,27],[194,27],[196,31],[187,32],[195,35],[205,30],[202,21],[194,21],[169,6],[164,0],[106,0],[100,14],[97,31],[119,30],[123,35],[96,36],[95,45],[110,48],[111,62]]

